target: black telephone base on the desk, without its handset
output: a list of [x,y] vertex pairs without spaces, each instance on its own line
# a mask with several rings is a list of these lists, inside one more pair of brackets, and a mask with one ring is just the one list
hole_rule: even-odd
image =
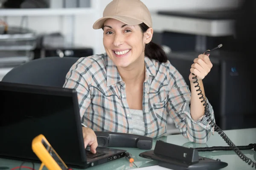
[[219,170],[227,167],[220,159],[214,160],[199,156],[193,148],[157,141],[154,150],[140,153],[140,157],[158,161],[160,167],[172,170]]

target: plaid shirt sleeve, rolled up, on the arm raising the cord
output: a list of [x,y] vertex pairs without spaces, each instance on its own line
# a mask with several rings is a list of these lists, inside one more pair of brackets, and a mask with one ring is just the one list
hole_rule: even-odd
[[[198,120],[192,119],[190,114],[191,92],[189,91],[189,86],[175,68],[171,70],[167,106],[169,116],[174,120],[175,126],[180,130],[180,133],[190,142],[205,143],[210,135],[214,133],[214,128],[212,125],[209,125],[209,121],[207,121],[209,118],[205,115]],[[209,106],[210,118],[215,122],[212,105],[207,98],[206,101]]]

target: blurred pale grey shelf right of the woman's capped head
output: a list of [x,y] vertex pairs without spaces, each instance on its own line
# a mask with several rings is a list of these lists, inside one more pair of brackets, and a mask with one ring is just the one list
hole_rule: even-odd
[[211,37],[234,34],[234,20],[205,20],[191,17],[152,14],[153,29],[157,32],[171,31],[183,34]]

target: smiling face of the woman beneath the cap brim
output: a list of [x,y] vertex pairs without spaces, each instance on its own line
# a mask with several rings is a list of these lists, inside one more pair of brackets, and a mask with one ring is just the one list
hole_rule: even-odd
[[103,26],[103,45],[106,53],[117,67],[128,67],[134,62],[144,63],[145,36],[140,26],[128,26],[121,21],[108,19]]

